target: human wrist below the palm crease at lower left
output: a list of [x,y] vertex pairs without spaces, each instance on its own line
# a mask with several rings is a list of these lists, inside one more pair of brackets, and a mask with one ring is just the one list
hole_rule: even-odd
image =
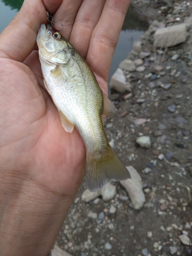
[[30,180],[14,186],[11,182],[1,183],[1,255],[47,256],[72,199],[54,195]]

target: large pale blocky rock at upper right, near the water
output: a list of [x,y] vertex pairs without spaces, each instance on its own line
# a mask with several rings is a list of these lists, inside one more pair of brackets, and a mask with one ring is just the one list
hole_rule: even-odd
[[186,24],[157,29],[154,34],[155,47],[170,47],[181,44],[187,37]]

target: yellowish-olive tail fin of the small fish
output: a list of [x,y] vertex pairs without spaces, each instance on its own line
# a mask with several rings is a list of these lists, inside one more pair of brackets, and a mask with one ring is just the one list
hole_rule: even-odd
[[108,153],[95,156],[87,152],[87,187],[94,192],[101,189],[108,180],[126,180],[131,178],[129,171],[122,164],[111,146]]

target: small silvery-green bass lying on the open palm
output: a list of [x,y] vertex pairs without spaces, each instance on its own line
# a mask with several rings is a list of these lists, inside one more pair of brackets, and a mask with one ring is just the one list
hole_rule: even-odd
[[66,132],[74,126],[87,150],[87,187],[99,190],[111,179],[130,178],[106,140],[101,115],[116,116],[86,61],[55,28],[42,24],[37,35],[39,59],[47,91]]

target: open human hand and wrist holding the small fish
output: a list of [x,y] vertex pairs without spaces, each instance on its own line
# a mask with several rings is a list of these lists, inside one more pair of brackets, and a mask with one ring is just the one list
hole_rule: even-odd
[[66,133],[42,79],[36,35],[53,23],[107,93],[130,0],[26,0],[0,35],[0,251],[47,255],[85,174],[86,149]]

